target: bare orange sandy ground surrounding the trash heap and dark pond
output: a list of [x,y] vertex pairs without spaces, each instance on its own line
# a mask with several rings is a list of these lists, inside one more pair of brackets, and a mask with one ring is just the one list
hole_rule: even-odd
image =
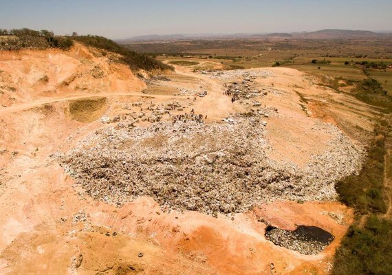
[[[207,122],[246,110],[222,95],[221,80],[182,67],[168,74],[173,81],[166,85],[174,89],[202,86],[208,96],[193,100],[140,94],[144,83],[124,65],[108,61],[108,56],[80,45],[68,53],[0,53],[0,86],[16,89],[1,95],[7,107],[0,110],[0,150],[6,149],[0,155],[0,274],[328,273],[352,218],[352,211],[339,203],[278,201],[236,214],[232,220],[197,212],[162,212],[146,197],[116,208],[74,188],[73,180],[50,155],[68,151],[105,125],[70,120],[70,99],[107,96],[104,111],[109,116],[120,113],[122,104],[135,101],[179,100],[189,103],[185,111],[194,108],[207,115]],[[95,66],[104,72],[102,78],[91,76]],[[315,117],[342,128],[371,129],[371,122],[364,119],[371,116],[364,104],[321,89],[296,70],[268,70],[273,76],[257,80],[258,85],[274,83],[274,89],[283,91],[263,99],[263,104],[279,109],[279,116],[268,120],[271,158],[303,165],[312,153],[326,150],[330,136],[314,128]],[[45,75],[49,80],[40,83]],[[63,84],[75,75],[69,85]],[[181,78],[195,81],[184,83]],[[160,85],[164,89],[165,83]],[[299,106],[294,85],[309,99],[310,117]],[[10,96],[16,99],[7,99]],[[336,239],[324,252],[305,256],[265,240],[266,223],[285,229],[316,225]]]

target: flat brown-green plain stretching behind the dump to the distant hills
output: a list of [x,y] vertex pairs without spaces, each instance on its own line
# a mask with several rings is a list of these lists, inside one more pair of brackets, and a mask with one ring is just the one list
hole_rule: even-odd
[[[363,66],[368,63],[392,65],[392,39],[368,40],[307,40],[307,39],[243,39],[222,41],[175,41],[165,43],[132,43],[126,45],[137,52],[158,55],[160,60],[175,56],[178,61],[200,62],[206,58],[221,63],[225,69],[248,69],[280,66],[292,67],[315,76],[359,81],[368,76]],[[160,56],[165,54],[166,56]],[[175,59],[177,58],[177,59]],[[315,63],[330,61],[331,63]],[[348,61],[349,64],[345,65]],[[320,69],[318,69],[320,67]],[[382,87],[392,94],[392,68],[369,69],[369,76],[378,80]]]

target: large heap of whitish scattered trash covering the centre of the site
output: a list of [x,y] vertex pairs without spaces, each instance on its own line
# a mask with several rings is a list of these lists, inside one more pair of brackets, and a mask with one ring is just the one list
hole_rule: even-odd
[[362,166],[362,147],[331,124],[319,122],[333,137],[329,148],[299,167],[266,157],[266,122],[257,111],[226,122],[204,124],[188,115],[148,127],[109,126],[59,160],[95,199],[121,206],[149,196],[162,209],[215,217],[276,199],[336,199],[334,183]]

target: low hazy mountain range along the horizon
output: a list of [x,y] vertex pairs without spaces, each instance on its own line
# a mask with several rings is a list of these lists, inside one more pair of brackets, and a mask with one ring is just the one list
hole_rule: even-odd
[[169,35],[143,35],[129,39],[120,39],[121,44],[157,41],[184,41],[200,39],[360,39],[392,36],[392,33],[371,32],[368,30],[338,30],[326,29],[316,32],[276,32],[270,34],[169,34]]

